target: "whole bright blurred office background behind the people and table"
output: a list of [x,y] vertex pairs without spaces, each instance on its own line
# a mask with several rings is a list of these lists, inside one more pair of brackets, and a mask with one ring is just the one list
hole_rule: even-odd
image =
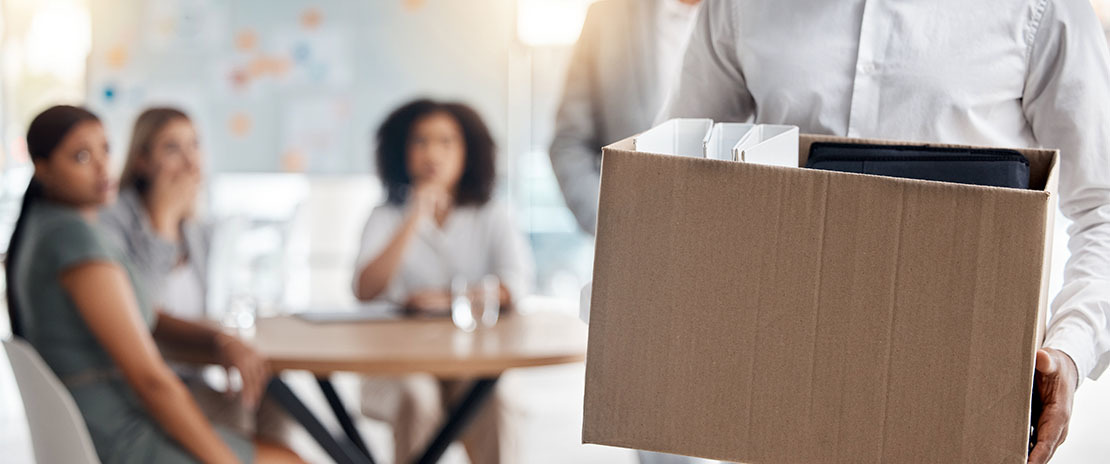
[[[359,233],[382,200],[373,131],[397,104],[430,95],[473,104],[491,125],[497,194],[529,239],[536,299],[576,312],[593,239],[563,202],[547,145],[591,2],[0,0],[0,250],[31,174],[23,134],[33,114],[87,104],[104,119],[121,168],[135,115],[172,104],[193,117],[209,155],[206,215],[222,224],[214,260],[223,273],[212,307],[243,293],[263,314],[350,305]],[[1092,3],[1110,23],[1110,0]],[[1058,221],[1057,276],[1064,226]],[[26,434],[2,365],[0,447],[10,450]],[[525,462],[632,462],[578,444],[581,371],[521,375],[518,402],[533,417],[522,431]],[[1107,384],[1081,391],[1059,462],[1110,454],[1099,436],[1110,430]]]

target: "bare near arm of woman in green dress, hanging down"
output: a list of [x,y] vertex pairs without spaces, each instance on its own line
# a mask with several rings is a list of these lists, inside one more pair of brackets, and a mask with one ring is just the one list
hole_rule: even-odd
[[108,261],[85,262],[63,271],[61,284],[162,430],[202,462],[236,462],[162,360],[123,269]]

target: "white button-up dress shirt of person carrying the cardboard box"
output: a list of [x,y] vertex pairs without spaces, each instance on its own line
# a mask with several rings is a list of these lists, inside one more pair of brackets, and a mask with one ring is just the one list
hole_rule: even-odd
[[1110,363],[1110,58],[1087,0],[707,0],[659,119],[1060,149],[1071,258],[1046,346]]

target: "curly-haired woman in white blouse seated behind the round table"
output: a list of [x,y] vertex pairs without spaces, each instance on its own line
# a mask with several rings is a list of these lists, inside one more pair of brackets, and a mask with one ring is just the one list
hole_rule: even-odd
[[[377,172],[387,196],[362,235],[359,300],[446,314],[452,280],[474,283],[485,275],[498,278],[502,307],[527,292],[531,253],[507,206],[491,201],[494,150],[485,123],[464,104],[417,100],[390,114],[377,131]],[[408,462],[468,385],[426,375],[365,379],[362,410],[392,424],[394,462]],[[513,461],[507,415],[494,395],[463,435],[471,462]]]

